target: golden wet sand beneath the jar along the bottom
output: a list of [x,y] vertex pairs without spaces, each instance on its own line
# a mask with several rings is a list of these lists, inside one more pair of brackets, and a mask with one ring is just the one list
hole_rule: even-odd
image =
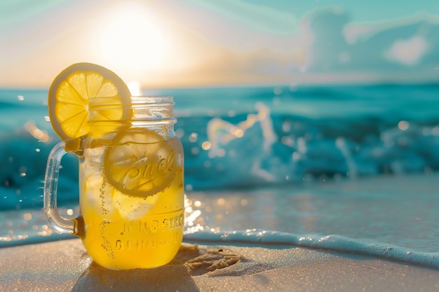
[[304,248],[183,244],[150,270],[107,270],[80,239],[0,249],[0,291],[438,291],[439,271]]

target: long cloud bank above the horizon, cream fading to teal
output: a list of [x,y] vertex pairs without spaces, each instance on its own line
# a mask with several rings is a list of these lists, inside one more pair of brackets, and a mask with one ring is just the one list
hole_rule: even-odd
[[203,84],[439,80],[439,22],[418,15],[356,24],[341,8],[320,8],[283,42],[246,50],[208,46],[201,55],[187,75]]

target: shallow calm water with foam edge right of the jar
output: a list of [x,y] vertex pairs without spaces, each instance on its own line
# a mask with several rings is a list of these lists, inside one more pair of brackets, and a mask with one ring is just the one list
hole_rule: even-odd
[[410,174],[191,193],[200,207],[186,240],[306,246],[438,268],[438,190],[438,174]]

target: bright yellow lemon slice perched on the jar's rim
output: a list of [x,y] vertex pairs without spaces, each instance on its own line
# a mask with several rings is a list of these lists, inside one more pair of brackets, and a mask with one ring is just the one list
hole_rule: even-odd
[[73,64],[50,85],[50,123],[63,140],[81,137],[90,131],[88,120],[130,119],[130,95],[113,71],[90,63]]

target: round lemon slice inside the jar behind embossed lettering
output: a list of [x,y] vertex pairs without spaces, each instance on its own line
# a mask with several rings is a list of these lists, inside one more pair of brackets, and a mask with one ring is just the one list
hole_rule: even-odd
[[104,154],[104,176],[121,193],[148,197],[173,182],[178,164],[171,140],[154,131],[121,131]]

